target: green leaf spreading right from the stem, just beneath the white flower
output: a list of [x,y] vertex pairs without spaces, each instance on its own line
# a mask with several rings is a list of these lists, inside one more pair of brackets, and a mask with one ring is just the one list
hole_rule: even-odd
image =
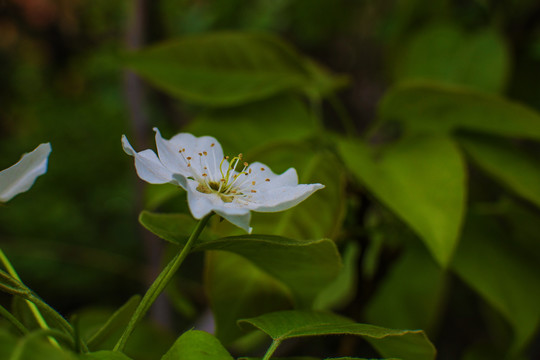
[[222,250],[243,256],[285,284],[298,307],[310,307],[341,269],[336,246],[328,239],[299,241],[271,235],[243,235],[201,242],[194,250]]

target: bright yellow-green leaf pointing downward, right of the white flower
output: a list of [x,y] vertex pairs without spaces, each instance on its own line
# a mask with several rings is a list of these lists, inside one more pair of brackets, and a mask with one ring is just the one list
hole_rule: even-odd
[[446,137],[405,138],[374,153],[360,141],[341,140],[351,172],[393,210],[446,266],[465,211],[465,164]]

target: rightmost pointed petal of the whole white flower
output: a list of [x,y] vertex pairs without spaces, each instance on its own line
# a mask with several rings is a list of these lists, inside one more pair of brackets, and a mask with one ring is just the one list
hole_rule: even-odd
[[287,210],[307,199],[315,191],[324,188],[322,184],[300,184],[283,186],[264,191],[257,190],[252,196],[250,209],[259,212]]

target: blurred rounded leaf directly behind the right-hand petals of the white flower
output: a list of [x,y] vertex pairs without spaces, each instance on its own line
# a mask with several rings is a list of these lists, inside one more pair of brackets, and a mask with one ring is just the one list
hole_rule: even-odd
[[284,212],[254,213],[254,231],[295,239],[335,238],[345,217],[345,170],[337,157],[320,144],[281,143],[253,155],[274,172],[294,167],[303,184],[325,188]]

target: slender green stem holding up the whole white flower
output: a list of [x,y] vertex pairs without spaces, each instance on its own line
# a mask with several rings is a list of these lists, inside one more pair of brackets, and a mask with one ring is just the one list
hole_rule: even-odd
[[178,254],[176,254],[176,256],[169,262],[169,264],[167,264],[167,266],[163,269],[163,271],[161,271],[161,273],[156,278],[156,280],[154,280],[152,285],[150,285],[150,288],[146,291],[146,294],[144,294],[141,302],[139,303],[139,306],[135,310],[135,313],[129,320],[129,324],[126,330],[124,330],[122,337],[116,343],[116,346],[114,347],[114,351],[124,350],[124,348],[126,347],[127,340],[133,333],[133,330],[135,330],[135,326],[137,326],[139,321],[142,320],[142,318],[144,317],[144,315],[146,315],[146,312],[148,311],[148,309],[150,309],[150,307],[152,306],[154,301],[157,299],[159,294],[163,292],[167,284],[171,281],[174,274],[176,273],[180,265],[182,265],[182,262],[191,251],[193,244],[199,238],[199,235],[201,234],[204,227],[208,223],[208,220],[210,219],[212,214],[213,213],[206,215],[204,218],[201,219],[201,221],[199,221],[199,223],[197,224],[197,227],[195,228],[195,230],[193,230],[193,233],[189,237],[186,245],[184,245],[182,250]]

